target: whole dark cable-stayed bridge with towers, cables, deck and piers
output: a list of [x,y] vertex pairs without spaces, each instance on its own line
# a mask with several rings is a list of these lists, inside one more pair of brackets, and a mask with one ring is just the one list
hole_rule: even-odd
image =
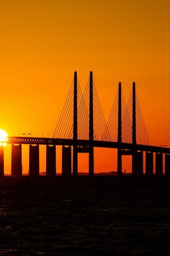
[[[106,122],[90,71],[84,93],[77,72],[52,138],[8,137],[12,145],[11,175],[22,175],[22,145],[29,145],[29,175],[39,175],[39,145],[46,145],[46,175],[56,175],[56,146],[62,146],[62,175],[78,175],[78,154],[89,154],[89,175],[94,175],[94,148],[117,149],[117,175],[122,175],[122,156],[132,156],[132,175],[170,176],[170,148],[151,146],[142,117],[135,83],[125,103],[121,83]],[[34,145],[34,146],[33,146]],[[73,148],[73,150],[71,149]],[[155,154],[155,157],[154,157]],[[165,170],[163,159],[165,156]],[[155,162],[154,162],[155,161]],[[154,173],[155,165],[155,173]],[[4,148],[0,147],[0,175],[4,175]]]

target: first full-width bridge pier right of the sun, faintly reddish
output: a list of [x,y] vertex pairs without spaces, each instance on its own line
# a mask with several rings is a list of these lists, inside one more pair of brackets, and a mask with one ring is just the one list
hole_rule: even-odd
[[11,175],[22,176],[22,145],[12,145]]

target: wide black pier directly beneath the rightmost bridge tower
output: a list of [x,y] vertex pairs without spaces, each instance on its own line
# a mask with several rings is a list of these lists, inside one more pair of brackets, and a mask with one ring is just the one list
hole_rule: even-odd
[[143,151],[133,151],[132,153],[132,175],[143,175]]

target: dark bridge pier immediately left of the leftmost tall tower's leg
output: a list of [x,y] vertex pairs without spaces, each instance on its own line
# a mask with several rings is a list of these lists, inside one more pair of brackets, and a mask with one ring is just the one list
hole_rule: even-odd
[[71,176],[71,146],[62,147],[62,175]]

